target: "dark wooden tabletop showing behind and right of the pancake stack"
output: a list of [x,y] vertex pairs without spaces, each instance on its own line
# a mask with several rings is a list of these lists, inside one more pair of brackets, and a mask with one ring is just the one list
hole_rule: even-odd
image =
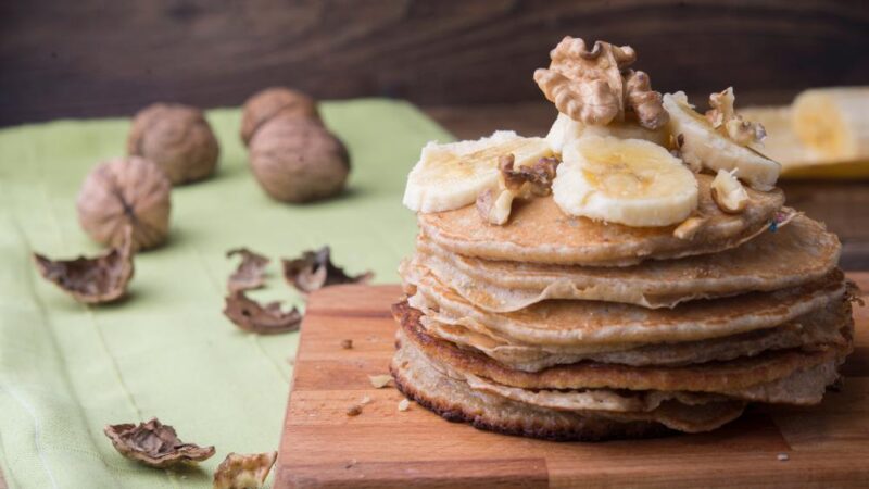
[[[555,120],[549,102],[477,106],[438,106],[426,112],[459,139],[477,139],[496,129],[543,136]],[[827,223],[842,240],[844,269],[869,271],[869,180],[780,180],[788,204]]]

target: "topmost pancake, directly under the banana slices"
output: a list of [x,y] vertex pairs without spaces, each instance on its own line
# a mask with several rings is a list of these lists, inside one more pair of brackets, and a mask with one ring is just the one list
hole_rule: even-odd
[[[695,215],[706,224],[691,239],[673,236],[676,226],[629,227],[568,216],[551,197],[517,202],[509,222],[496,226],[483,222],[468,205],[454,211],[418,214],[421,233],[441,248],[487,260],[559,265],[627,266],[646,259],[676,259],[734,248],[763,233],[784,204],[774,189],[747,188],[750,202],[740,214],[726,214],[713,201],[713,177],[697,175],[700,188]],[[792,210],[782,210],[791,214]],[[785,212],[786,211],[786,212]]]

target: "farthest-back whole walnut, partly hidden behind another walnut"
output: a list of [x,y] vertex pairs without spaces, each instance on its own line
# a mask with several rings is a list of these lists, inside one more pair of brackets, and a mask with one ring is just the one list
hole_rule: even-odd
[[301,91],[272,87],[254,93],[244,102],[241,115],[241,140],[250,146],[253,134],[267,121],[278,116],[319,121],[316,102]]

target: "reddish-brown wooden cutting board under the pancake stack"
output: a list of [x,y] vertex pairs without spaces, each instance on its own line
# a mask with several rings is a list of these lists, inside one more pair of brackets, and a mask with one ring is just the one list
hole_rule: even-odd
[[[869,273],[852,274],[869,290]],[[398,286],[312,294],[274,487],[867,487],[869,308],[855,309],[857,348],[844,389],[810,409],[754,408],[722,429],[653,440],[557,443],[449,423],[375,389],[388,373]],[[350,339],[345,350],[341,341]],[[348,416],[364,397],[362,414]],[[789,460],[780,461],[779,454]]]

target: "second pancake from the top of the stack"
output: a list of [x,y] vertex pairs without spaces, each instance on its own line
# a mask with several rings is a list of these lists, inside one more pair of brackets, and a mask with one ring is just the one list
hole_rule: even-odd
[[580,267],[462,256],[420,236],[414,263],[424,265],[465,300],[490,312],[511,312],[547,299],[622,302],[672,308],[680,302],[770,291],[818,280],[839,262],[839,238],[803,215],[776,233],[738,248],[630,267]]

